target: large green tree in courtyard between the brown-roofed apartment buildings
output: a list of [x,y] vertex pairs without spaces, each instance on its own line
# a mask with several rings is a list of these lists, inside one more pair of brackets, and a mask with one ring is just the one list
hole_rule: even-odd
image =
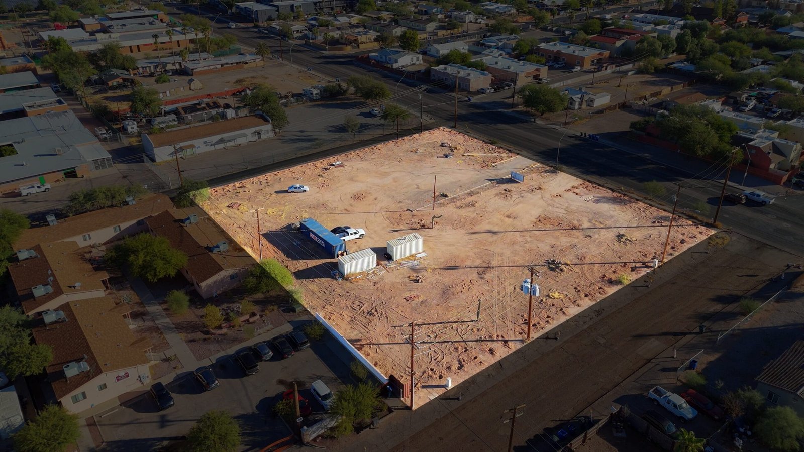
[[187,254],[170,246],[167,237],[142,232],[129,236],[107,254],[109,261],[126,265],[137,277],[156,282],[173,277],[187,265]]

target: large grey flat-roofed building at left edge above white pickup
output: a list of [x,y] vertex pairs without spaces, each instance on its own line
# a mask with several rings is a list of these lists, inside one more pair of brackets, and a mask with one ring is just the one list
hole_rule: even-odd
[[112,157],[71,111],[2,121],[0,146],[16,151],[0,157],[0,191],[112,167]]

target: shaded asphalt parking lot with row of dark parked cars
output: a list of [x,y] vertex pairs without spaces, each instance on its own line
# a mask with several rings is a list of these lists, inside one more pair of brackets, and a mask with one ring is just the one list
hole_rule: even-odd
[[299,384],[301,397],[313,409],[311,416],[323,412],[310,393],[312,382],[322,380],[332,391],[343,386],[330,369],[340,374],[343,369],[338,370],[338,366],[345,368],[345,364],[327,365],[323,361],[331,360],[334,355],[330,340],[333,339],[312,341],[310,348],[285,360],[277,358],[274,351],[273,358],[260,362],[259,372],[252,376],[245,376],[233,355],[224,355],[210,366],[220,385],[209,392],[195,379],[195,369],[182,372],[166,383],[175,405],[165,411],[160,412],[144,390],[119,407],[96,416],[104,450],[158,450],[182,440],[195,421],[211,409],[226,410],[240,423],[242,450],[260,450],[286,438],[292,432],[281,418],[273,415],[273,406],[282,392],[293,388],[293,381]]

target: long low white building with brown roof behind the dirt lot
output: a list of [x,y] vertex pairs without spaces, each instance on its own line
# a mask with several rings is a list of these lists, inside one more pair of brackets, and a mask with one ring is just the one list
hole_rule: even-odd
[[269,117],[252,115],[215,121],[203,126],[170,129],[161,134],[142,134],[145,154],[154,162],[189,157],[210,150],[228,149],[273,137]]

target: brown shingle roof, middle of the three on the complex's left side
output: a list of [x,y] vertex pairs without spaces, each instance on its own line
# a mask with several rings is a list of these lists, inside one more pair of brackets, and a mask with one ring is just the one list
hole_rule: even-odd
[[[109,277],[105,271],[96,272],[78,253],[78,244],[73,241],[53,242],[35,246],[39,257],[31,257],[9,266],[14,289],[23,303],[23,310],[30,313],[61,294],[77,294],[92,290],[104,290],[103,280]],[[34,298],[31,287],[47,284],[53,277],[53,292]],[[80,287],[76,286],[80,282]]]

